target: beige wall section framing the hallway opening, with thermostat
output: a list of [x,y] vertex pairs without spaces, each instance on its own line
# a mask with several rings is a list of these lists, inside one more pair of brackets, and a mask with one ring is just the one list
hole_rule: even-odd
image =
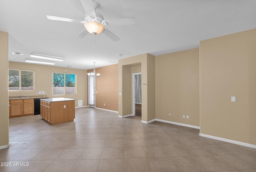
[[[118,61],[118,92],[122,93],[118,100],[120,116],[132,114],[131,68],[141,64],[142,83],[142,121],[148,122],[155,118],[155,57],[150,54],[141,54]],[[148,96],[152,96],[151,98]]]

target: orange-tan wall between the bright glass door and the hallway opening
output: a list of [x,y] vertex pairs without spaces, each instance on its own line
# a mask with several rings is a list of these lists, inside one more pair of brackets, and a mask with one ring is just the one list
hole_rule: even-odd
[[[95,70],[96,73],[100,73],[95,83],[96,108],[118,111],[118,64],[95,68]],[[93,69],[88,72],[93,72]]]

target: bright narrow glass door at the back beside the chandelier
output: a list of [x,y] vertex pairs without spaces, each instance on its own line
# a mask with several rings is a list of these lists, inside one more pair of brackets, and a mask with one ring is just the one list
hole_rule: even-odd
[[88,76],[88,106],[95,108],[95,75]]

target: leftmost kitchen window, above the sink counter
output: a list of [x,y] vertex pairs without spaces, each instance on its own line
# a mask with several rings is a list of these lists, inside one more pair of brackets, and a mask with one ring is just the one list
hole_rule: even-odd
[[34,71],[10,69],[9,90],[34,90]]

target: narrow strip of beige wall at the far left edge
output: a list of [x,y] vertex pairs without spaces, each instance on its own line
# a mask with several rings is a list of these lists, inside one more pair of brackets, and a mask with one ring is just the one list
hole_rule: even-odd
[[[8,33],[0,31],[0,148],[9,144]],[[1,147],[3,146],[3,147]]]

